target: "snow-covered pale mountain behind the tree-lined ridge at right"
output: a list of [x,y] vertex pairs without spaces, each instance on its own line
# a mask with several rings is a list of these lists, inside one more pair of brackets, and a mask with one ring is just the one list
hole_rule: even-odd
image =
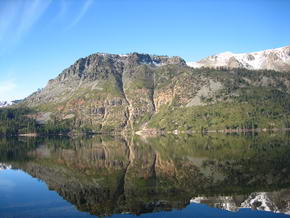
[[187,64],[194,68],[226,67],[231,69],[290,71],[290,46],[252,53],[234,54],[224,52]]

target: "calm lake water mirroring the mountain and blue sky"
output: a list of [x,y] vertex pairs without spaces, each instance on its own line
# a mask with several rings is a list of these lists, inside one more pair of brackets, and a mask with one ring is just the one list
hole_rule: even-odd
[[289,139],[0,139],[0,217],[290,217]]

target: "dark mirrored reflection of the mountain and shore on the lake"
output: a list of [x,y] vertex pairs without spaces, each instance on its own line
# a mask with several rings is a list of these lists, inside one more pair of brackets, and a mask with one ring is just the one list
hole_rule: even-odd
[[236,210],[251,193],[272,196],[282,188],[284,203],[266,208],[248,200],[247,207],[289,211],[287,134],[1,139],[0,162],[98,216],[171,210],[190,201],[223,209],[234,202]]

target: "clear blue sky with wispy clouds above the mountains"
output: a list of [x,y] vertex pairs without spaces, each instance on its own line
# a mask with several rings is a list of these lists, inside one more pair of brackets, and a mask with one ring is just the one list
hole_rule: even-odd
[[0,0],[0,101],[96,52],[181,56],[290,45],[289,0]]

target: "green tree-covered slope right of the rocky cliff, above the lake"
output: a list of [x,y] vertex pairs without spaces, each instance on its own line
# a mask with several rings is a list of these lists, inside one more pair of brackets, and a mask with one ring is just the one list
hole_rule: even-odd
[[[283,83],[289,80],[288,74],[206,68],[196,69],[194,73],[185,72],[178,81],[185,79],[198,86],[202,83],[198,78],[205,77],[222,83],[224,87],[213,95],[201,96],[203,105],[184,106],[180,99],[190,99],[190,93],[188,96],[175,96],[171,104],[160,107],[159,113],[149,121],[149,127],[166,131],[290,127],[290,95]],[[164,88],[164,81],[161,87]]]

